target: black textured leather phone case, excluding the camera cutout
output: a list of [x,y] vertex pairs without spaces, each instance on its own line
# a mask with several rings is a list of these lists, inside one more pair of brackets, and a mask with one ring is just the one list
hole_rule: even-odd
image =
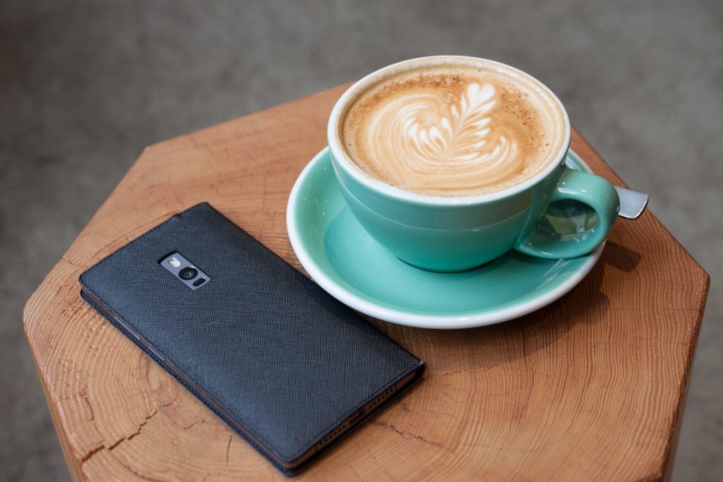
[[[173,251],[208,272],[210,282],[192,291],[164,270],[158,261]],[[200,387],[184,383],[106,315],[272,462],[269,455],[298,460],[368,400],[424,370],[419,358],[206,203],[101,260],[80,285]]]

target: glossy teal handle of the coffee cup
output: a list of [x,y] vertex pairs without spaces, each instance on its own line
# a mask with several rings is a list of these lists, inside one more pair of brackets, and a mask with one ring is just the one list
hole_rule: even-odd
[[620,199],[615,188],[604,178],[594,174],[565,168],[552,192],[550,202],[570,199],[589,205],[597,214],[598,225],[594,228],[559,238],[541,236],[539,220],[525,231],[526,236],[518,241],[515,249],[530,256],[560,259],[574,258],[588,254],[607,238],[607,234],[617,219],[620,210]]

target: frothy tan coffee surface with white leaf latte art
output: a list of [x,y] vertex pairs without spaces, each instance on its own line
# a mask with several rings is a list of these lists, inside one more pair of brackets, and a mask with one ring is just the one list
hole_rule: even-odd
[[482,61],[392,72],[356,96],[340,128],[344,149],[369,176],[441,197],[520,184],[565,142],[564,115],[547,91]]

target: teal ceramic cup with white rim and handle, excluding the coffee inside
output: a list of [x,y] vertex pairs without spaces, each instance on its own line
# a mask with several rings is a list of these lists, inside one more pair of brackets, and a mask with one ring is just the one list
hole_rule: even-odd
[[[507,189],[469,197],[435,197],[399,189],[362,171],[343,149],[339,129],[348,106],[370,82],[399,72],[405,64],[424,61],[493,61],[445,56],[412,59],[369,74],[352,85],[336,103],[328,125],[328,142],[335,176],[351,212],[362,227],[403,262],[435,272],[460,272],[492,261],[510,249],[544,258],[587,254],[607,237],[617,218],[617,192],[599,176],[566,168],[570,124],[560,100],[565,123],[562,147],[551,163],[536,175]],[[388,160],[386,162],[393,162]],[[597,225],[574,236],[560,236],[540,223],[550,202],[582,202],[598,217]]]

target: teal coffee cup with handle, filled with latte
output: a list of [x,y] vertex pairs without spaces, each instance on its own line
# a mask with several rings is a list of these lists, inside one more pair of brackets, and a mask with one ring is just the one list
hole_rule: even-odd
[[[565,167],[560,100],[496,61],[434,56],[373,72],[339,98],[328,143],[356,220],[424,270],[471,270],[510,249],[578,257],[602,244],[619,210],[609,182]],[[555,201],[588,205],[597,222],[550,233],[542,220]]]

